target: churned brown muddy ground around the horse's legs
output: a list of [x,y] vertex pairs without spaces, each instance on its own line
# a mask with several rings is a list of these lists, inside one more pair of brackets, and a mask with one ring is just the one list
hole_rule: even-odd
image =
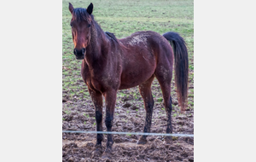
[[[86,90],[83,82],[81,89]],[[166,132],[166,113],[158,81],[152,85],[154,113],[151,132]],[[177,94],[172,83],[173,133],[194,134],[194,87],[189,80],[189,107],[179,113]],[[62,130],[96,130],[94,106],[89,95],[73,95],[63,92]],[[103,113],[105,110],[103,110]],[[113,120],[113,131],[143,132],[145,110],[138,87],[119,90]],[[105,119],[103,119],[104,121]],[[103,123],[103,130],[106,126]],[[164,143],[163,136],[148,136],[146,145],[137,145],[139,136],[113,135],[111,159],[94,156],[96,134],[62,133],[62,161],[194,161],[194,138],[172,137],[172,145]],[[102,147],[106,148],[104,135]]]

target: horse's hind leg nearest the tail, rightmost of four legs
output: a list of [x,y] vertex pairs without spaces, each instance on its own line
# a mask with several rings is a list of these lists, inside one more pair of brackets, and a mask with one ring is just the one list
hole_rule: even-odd
[[[168,65],[168,64],[166,64]],[[168,66],[157,67],[154,72],[155,77],[160,83],[160,87],[163,93],[166,116],[167,116],[167,128],[166,133],[172,133],[172,97],[171,97],[171,82],[172,82],[172,68]],[[166,136],[166,143],[172,143],[172,137]]]

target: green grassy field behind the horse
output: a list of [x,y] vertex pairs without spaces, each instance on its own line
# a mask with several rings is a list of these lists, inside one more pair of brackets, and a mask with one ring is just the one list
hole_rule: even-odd
[[[87,87],[80,75],[81,61],[73,55],[73,40],[69,26],[71,14],[68,3],[74,8],[87,8],[90,1],[62,1],[62,90],[70,100],[90,98]],[[94,0],[95,20],[104,32],[113,32],[117,38],[125,38],[133,32],[154,31],[178,32],[186,41],[189,50],[189,84],[194,84],[194,2],[193,0],[144,0],[144,1],[103,1]],[[154,85],[153,86],[159,86]],[[160,90],[158,90],[160,91]],[[194,93],[189,104],[194,106]],[[161,93],[160,93],[161,94]],[[137,100],[138,91],[132,91]],[[120,90],[118,97],[128,97]],[[162,95],[153,93],[154,99],[162,102]],[[157,98],[155,98],[157,97]],[[159,98],[160,97],[160,98]],[[192,102],[192,103],[191,103]]]

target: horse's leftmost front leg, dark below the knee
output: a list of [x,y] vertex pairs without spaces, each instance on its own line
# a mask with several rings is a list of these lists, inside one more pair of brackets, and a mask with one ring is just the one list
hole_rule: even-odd
[[[88,90],[90,92],[91,100],[93,101],[94,107],[95,107],[95,118],[96,118],[96,130],[102,131],[102,93],[99,91],[90,90],[88,87]],[[96,153],[99,154],[102,151],[102,140],[103,135],[97,134],[96,138]]]

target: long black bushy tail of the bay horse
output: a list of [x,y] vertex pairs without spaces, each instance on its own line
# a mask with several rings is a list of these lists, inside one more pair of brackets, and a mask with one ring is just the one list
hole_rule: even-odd
[[172,44],[175,57],[175,85],[177,101],[183,112],[188,102],[189,57],[186,43],[176,32],[163,35]]

